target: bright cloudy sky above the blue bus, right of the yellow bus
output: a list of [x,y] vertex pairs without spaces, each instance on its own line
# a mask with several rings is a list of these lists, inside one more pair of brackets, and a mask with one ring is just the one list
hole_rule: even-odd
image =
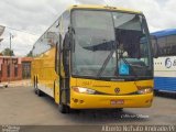
[[150,31],[176,28],[176,0],[107,0],[110,6],[120,6],[142,11]]

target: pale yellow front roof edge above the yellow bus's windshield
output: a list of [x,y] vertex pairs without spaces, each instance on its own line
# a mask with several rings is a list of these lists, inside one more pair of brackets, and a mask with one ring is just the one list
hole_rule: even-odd
[[132,9],[125,9],[121,7],[109,7],[109,6],[94,6],[94,4],[76,4],[70,6],[68,10],[72,9],[99,9],[99,10],[117,10],[117,11],[124,11],[124,12],[131,12],[131,13],[142,13],[141,11],[132,10]]

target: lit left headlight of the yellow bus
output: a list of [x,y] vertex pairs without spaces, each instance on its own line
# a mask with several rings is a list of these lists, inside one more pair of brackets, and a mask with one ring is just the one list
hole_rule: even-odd
[[73,90],[79,94],[89,94],[89,95],[94,95],[96,92],[96,90],[84,87],[73,87]]

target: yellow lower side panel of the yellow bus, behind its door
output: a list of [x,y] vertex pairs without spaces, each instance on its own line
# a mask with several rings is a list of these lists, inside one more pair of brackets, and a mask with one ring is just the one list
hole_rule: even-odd
[[54,82],[57,78],[55,74],[55,48],[52,48],[36,57],[33,62],[32,75],[37,78],[37,87],[46,95],[54,98]]

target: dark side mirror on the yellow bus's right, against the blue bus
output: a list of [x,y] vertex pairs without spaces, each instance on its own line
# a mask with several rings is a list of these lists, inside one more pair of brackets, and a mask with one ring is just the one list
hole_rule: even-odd
[[152,42],[152,55],[154,58],[158,57],[158,43],[157,37],[155,35],[151,35],[151,42]]

